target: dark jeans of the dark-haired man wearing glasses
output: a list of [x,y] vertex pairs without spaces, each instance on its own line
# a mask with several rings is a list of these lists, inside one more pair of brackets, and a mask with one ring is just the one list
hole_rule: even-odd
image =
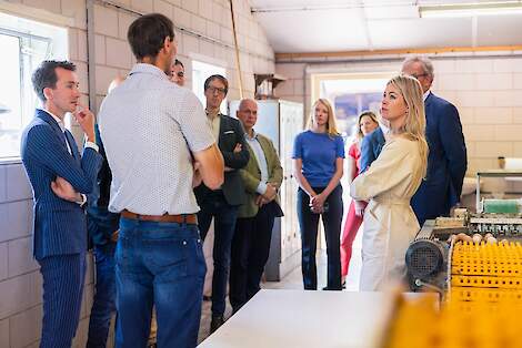
[[222,316],[225,308],[227,283],[230,269],[230,249],[235,227],[238,207],[229,205],[222,194],[214,194],[200,203],[198,224],[201,236],[207,236],[214,217],[214,273],[212,275],[212,315]]

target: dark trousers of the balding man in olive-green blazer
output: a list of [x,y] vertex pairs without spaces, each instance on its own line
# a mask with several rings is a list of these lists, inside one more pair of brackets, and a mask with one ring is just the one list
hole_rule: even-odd
[[274,204],[263,205],[255,216],[235,222],[230,264],[230,304],[234,311],[260,290],[259,283],[270,253]]

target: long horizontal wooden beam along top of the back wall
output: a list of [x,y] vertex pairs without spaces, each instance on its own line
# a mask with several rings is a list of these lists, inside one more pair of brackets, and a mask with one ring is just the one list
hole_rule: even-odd
[[424,48],[424,49],[396,49],[373,51],[338,51],[338,52],[302,52],[302,53],[275,53],[275,60],[305,59],[305,58],[342,58],[360,55],[392,55],[392,54],[438,54],[454,52],[494,52],[494,51],[522,51],[522,45],[488,45],[488,47],[454,47],[454,48]]

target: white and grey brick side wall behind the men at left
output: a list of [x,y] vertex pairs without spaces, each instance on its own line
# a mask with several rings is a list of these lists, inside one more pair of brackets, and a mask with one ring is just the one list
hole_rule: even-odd
[[[69,28],[70,59],[78,65],[82,102],[88,104],[88,45],[86,0],[13,0],[53,13],[74,19]],[[170,17],[174,24],[195,30],[213,38],[233,43],[230,8],[223,0],[118,0],[133,11],[158,11]],[[240,25],[239,41],[242,50],[241,65],[245,96],[253,96],[253,73],[274,72],[273,51],[267,43],[262,29],[250,13],[247,0],[234,1]],[[110,81],[117,74],[127,74],[134,63],[127,44],[127,30],[134,16],[104,7],[94,6],[96,94],[98,110]],[[227,62],[230,78],[229,99],[239,98],[235,78],[234,53],[230,48],[177,32],[178,57],[187,71],[188,86],[191,85],[191,53],[208,55]],[[252,54],[253,52],[253,54]],[[257,55],[259,54],[259,55]],[[261,55],[261,57],[260,57]],[[81,131],[72,122],[77,141],[82,140]],[[20,164],[0,164],[0,347],[38,347],[41,329],[42,280],[38,264],[32,259],[32,192]],[[209,238],[209,242],[212,239]],[[73,347],[84,347],[88,319],[93,295],[92,258],[88,258],[88,273],[81,311],[81,321]],[[110,338],[111,340],[111,338]]]

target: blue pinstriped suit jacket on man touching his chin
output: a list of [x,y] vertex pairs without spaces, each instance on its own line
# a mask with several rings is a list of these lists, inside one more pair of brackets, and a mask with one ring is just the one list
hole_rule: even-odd
[[67,136],[49,113],[37,110],[21,139],[22,162],[34,195],[33,253],[37,259],[87,250],[83,209],[77,203],[54,195],[51,182],[61,176],[76,191],[90,193],[101,156],[90,147],[80,156],[72,134],[66,133]]

